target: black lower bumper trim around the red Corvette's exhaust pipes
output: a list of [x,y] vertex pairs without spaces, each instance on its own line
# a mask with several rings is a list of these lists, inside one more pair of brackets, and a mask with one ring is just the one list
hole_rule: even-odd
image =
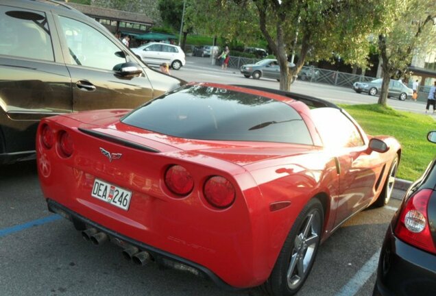
[[69,208],[62,206],[61,204],[59,204],[56,201],[53,201],[52,199],[47,199],[47,207],[49,208],[50,212],[60,214],[60,216],[64,217],[65,219],[69,219],[71,222],[75,224],[77,222],[84,223],[87,227],[94,227],[100,232],[106,233],[110,241],[115,245],[118,245],[119,247],[128,247],[128,246],[137,247],[141,251],[148,251],[149,254],[152,256],[152,258],[154,259],[154,261],[158,262],[159,264],[163,264],[173,269],[188,271],[200,277],[208,277],[215,284],[217,284],[217,286],[219,286],[220,288],[224,288],[228,291],[239,290],[239,288],[235,288],[233,286],[226,284],[226,282],[221,280],[221,278],[215,275],[215,273],[213,273],[212,271],[210,271],[209,269],[207,269],[206,267],[200,264],[197,264],[190,260],[186,260],[184,258],[181,258],[180,256],[176,256],[167,251],[162,251],[161,249],[152,247],[145,243],[141,243],[138,240],[134,240],[133,238],[129,238],[128,236],[124,236],[123,234],[114,232],[108,229],[107,227],[99,225],[98,223],[86,219],[80,214],[77,214],[76,212],[69,210]]

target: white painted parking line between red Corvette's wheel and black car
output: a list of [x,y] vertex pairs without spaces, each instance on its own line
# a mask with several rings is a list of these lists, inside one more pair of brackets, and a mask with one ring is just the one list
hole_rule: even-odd
[[362,288],[362,286],[370,279],[371,275],[376,271],[378,264],[378,256],[380,256],[380,250],[376,251],[374,255],[367,260],[363,267],[357,271],[357,273],[352,277],[348,283],[341,288],[341,291],[335,296],[352,296],[356,295],[357,292]]

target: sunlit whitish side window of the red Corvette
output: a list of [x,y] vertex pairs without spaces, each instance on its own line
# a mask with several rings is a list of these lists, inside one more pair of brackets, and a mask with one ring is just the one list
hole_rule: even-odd
[[312,109],[311,114],[326,147],[359,147],[365,144],[356,125],[340,110],[317,108]]

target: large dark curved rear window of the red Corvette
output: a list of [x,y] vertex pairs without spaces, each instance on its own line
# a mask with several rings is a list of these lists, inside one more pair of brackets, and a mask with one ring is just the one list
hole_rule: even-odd
[[179,88],[122,122],[180,138],[313,144],[300,114],[287,103],[211,86]]

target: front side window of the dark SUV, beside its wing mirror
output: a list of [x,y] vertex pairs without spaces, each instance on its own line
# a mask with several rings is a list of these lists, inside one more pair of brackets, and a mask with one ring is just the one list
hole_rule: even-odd
[[117,45],[93,27],[64,16],[59,17],[71,56],[71,64],[112,70],[125,63]]

